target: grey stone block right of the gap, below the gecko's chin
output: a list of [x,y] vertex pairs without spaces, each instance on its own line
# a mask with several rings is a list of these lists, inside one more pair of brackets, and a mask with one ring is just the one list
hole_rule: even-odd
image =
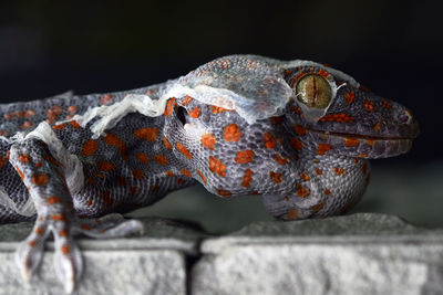
[[395,217],[259,222],[202,245],[193,294],[435,294],[443,235]]

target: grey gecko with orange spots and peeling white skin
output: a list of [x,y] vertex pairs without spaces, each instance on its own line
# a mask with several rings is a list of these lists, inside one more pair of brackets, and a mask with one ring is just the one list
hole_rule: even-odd
[[143,230],[122,213],[200,183],[257,194],[272,217],[350,210],[369,159],[406,152],[411,110],[328,65],[230,55],[162,84],[0,105],[0,223],[34,221],[17,250],[35,277],[50,235],[66,292],[82,274],[74,236]]

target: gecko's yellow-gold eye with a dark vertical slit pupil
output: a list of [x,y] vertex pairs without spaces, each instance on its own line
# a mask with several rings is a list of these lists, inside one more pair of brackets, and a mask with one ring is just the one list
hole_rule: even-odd
[[331,86],[320,75],[303,76],[296,86],[297,99],[309,107],[324,108],[332,98]]

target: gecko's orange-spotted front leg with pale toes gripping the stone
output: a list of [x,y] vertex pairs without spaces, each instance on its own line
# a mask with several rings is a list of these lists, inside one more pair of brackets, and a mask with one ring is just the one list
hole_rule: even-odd
[[10,162],[20,175],[37,209],[37,221],[31,234],[21,243],[17,262],[28,280],[34,274],[50,233],[54,236],[54,266],[72,292],[82,273],[82,257],[72,239],[74,209],[62,164],[55,160],[47,144],[35,138],[11,146]]

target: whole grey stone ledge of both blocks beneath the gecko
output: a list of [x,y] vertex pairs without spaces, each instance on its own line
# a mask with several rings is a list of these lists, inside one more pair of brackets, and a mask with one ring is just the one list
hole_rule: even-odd
[[[79,240],[85,270],[76,294],[443,293],[443,230],[392,215],[255,222],[218,238],[192,223],[142,221],[142,236]],[[31,226],[0,226],[0,295],[64,294],[52,243],[32,287],[18,273],[13,251]]]

